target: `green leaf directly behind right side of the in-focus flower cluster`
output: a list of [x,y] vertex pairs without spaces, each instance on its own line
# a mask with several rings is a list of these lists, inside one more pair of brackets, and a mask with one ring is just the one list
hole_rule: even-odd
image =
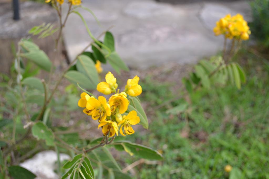
[[128,105],[127,112],[130,112],[133,110],[136,111],[137,116],[139,116],[139,118],[140,118],[140,124],[144,128],[148,129],[148,118],[147,118],[146,113],[144,112],[144,109],[142,108],[142,106],[140,104],[140,101],[138,100],[137,97],[129,96],[128,99],[130,101],[130,104]]

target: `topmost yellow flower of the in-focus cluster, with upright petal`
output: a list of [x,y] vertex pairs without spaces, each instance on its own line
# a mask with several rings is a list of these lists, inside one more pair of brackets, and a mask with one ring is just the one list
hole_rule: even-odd
[[115,89],[118,87],[116,83],[117,79],[110,71],[105,75],[105,81],[106,82],[103,81],[97,85],[97,91],[106,95],[116,92]]

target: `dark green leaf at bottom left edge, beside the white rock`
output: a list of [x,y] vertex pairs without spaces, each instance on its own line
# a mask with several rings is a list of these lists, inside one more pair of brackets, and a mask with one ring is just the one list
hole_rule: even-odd
[[34,179],[36,175],[31,171],[20,167],[20,166],[10,166],[8,167],[8,172],[10,176],[14,179]]

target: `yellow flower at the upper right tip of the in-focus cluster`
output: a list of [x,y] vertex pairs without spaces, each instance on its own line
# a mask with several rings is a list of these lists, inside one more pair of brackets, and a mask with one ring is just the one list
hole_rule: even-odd
[[128,79],[124,91],[130,96],[139,96],[142,93],[142,87],[138,84],[138,82],[138,76],[135,76],[133,79]]

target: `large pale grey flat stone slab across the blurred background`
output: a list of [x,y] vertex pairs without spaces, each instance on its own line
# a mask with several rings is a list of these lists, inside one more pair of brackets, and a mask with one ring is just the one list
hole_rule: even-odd
[[[98,26],[89,12],[78,8],[94,36],[115,25],[111,31],[116,51],[134,68],[171,61],[195,63],[214,55],[224,40],[214,36],[215,22],[228,13],[241,13],[247,20],[251,17],[247,1],[171,5],[153,0],[84,0],[83,6],[90,8],[101,23]],[[90,42],[76,14],[70,15],[64,36],[70,59]]]

